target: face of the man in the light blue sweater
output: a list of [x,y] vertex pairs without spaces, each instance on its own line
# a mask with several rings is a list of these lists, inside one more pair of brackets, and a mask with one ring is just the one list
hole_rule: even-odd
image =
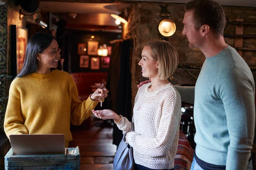
[[183,19],[184,28],[182,31],[183,35],[186,35],[189,40],[190,48],[200,48],[203,44],[203,37],[200,34],[200,28],[197,30],[195,28],[194,22],[194,11],[186,11]]

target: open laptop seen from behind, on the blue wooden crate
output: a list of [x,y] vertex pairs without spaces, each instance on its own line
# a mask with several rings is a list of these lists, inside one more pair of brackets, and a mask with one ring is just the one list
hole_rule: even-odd
[[65,154],[64,134],[10,135],[13,155]]

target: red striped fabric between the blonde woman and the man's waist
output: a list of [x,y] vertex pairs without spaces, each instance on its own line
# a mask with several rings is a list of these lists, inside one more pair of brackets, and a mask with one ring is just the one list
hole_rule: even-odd
[[180,130],[178,149],[174,160],[174,170],[190,170],[194,150],[189,145],[186,135]]

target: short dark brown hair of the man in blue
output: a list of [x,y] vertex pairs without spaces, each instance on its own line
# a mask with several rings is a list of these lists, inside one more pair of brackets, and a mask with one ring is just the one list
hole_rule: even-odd
[[213,0],[192,0],[185,5],[185,11],[193,11],[195,28],[199,29],[204,24],[216,37],[224,34],[226,17],[223,8]]

